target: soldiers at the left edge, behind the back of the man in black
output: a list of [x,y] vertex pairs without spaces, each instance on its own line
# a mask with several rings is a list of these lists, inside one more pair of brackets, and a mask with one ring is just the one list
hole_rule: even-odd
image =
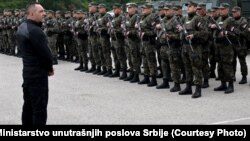
[[5,9],[3,13],[0,13],[0,52],[9,55],[20,55],[16,51],[15,33],[24,20],[25,9],[16,9],[14,11]]

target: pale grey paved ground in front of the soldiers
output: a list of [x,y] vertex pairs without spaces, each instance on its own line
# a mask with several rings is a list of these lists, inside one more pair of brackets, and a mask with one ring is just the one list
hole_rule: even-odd
[[[2,54],[0,60],[0,124],[20,124],[22,62]],[[249,56],[247,61],[250,64]],[[250,86],[238,84],[239,72],[233,94],[214,92],[219,82],[211,80],[202,98],[192,99],[73,71],[76,66],[63,61],[55,66],[48,124],[250,124]]]

